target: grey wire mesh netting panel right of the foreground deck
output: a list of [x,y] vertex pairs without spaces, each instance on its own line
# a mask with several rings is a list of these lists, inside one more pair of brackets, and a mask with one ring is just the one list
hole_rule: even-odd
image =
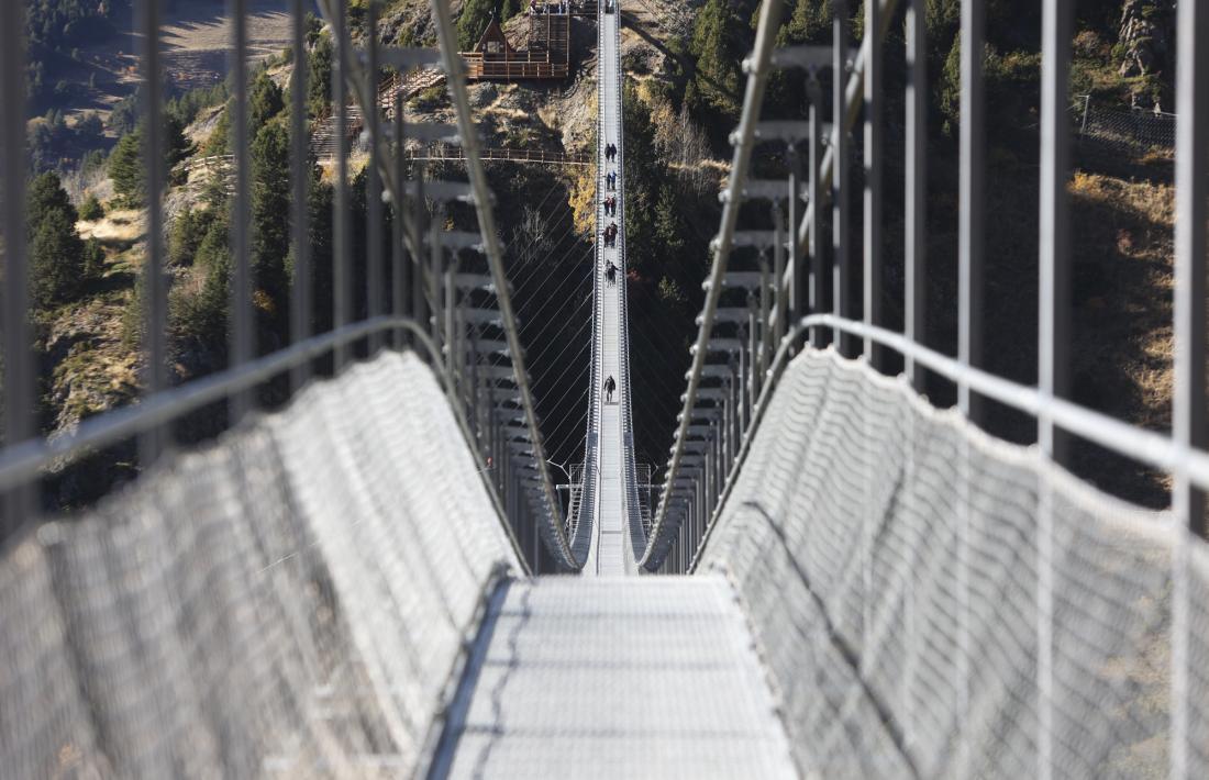
[[[1169,520],[810,351],[786,370],[701,571],[734,579],[803,774],[1022,778],[1048,755],[1054,776],[1161,778]],[[1190,551],[1188,774],[1202,776],[1209,554]]]

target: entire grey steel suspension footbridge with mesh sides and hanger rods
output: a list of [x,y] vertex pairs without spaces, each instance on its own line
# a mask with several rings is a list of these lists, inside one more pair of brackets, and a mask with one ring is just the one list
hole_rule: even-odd
[[[613,4],[596,10],[600,238],[583,466],[569,502],[551,479],[467,68],[440,0],[433,50],[383,50],[371,35],[358,51],[345,4],[319,2],[335,40],[332,328],[313,333],[313,290],[295,289],[291,342],[267,353],[251,337],[247,16],[232,2],[231,360],[180,386],[163,369],[167,281],[155,238],[163,103],[146,91],[147,394],[40,437],[25,316],[25,62],[15,33],[24,25],[18,4],[0,6],[0,774],[1209,775],[1209,8],[1179,5],[1168,434],[1069,400],[1071,4],[1042,4],[1035,387],[990,374],[980,352],[984,94],[982,59],[970,52],[982,50],[984,4],[961,4],[956,356],[921,342],[927,2],[864,4],[861,41],[850,40],[846,4],[833,2],[826,47],[776,46],[781,5],[760,6],[744,60],[683,406],[666,421],[670,460],[659,502],[646,508]],[[307,6],[291,4],[299,52]],[[140,30],[150,83],[161,83],[156,8],[147,4]],[[368,4],[370,29],[376,12]],[[907,30],[906,149],[880,133],[896,19]],[[438,68],[456,121],[388,116],[377,83],[387,64]],[[777,70],[805,82],[805,116],[762,119]],[[306,77],[302,68],[291,76],[300,279],[313,261]],[[371,160],[368,225],[392,215],[388,244],[366,242],[363,276],[349,260],[360,227],[342,216],[347,96],[363,109]],[[860,144],[850,134],[858,123]],[[405,143],[417,138],[458,144],[464,180],[406,167]],[[752,174],[762,145],[785,155],[786,178]],[[892,331],[879,307],[881,173],[902,155],[906,328]],[[364,316],[354,283],[364,284]],[[889,353],[902,357],[902,375],[884,371]],[[925,372],[956,387],[956,408],[920,393]],[[256,388],[274,380],[288,383],[289,403],[256,409]],[[988,400],[1035,417],[1039,444],[985,433]],[[172,423],[215,404],[227,432],[177,450]],[[1170,509],[1129,505],[1074,476],[1065,464],[1076,437],[1170,474]],[[48,469],[131,439],[139,480],[76,515],[41,515]]]

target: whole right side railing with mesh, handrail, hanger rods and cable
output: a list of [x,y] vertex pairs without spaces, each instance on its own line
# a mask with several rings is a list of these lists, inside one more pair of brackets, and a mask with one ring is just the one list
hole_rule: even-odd
[[[880,60],[901,5],[902,333],[887,328],[878,306],[880,172],[902,152],[870,127],[887,99]],[[706,306],[643,565],[718,567],[739,583],[762,624],[762,657],[787,692],[786,723],[802,746],[803,774],[1199,776],[1209,756],[1201,663],[1209,624],[1199,603],[1209,557],[1209,10],[1179,7],[1176,116],[1157,120],[1174,129],[1176,171],[1175,414],[1167,434],[1070,399],[1068,180],[1078,131],[1068,96],[1071,4],[1042,4],[1037,385],[991,374],[983,353],[985,94],[982,58],[970,52],[983,48],[985,5],[977,0],[961,4],[958,349],[949,356],[921,343],[936,316],[921,293],[927,6],[863,4],[867,34],[857,51],[849,48],[845,2],[832,4],[832,47],[776,48],[779,4],[762,7]],[[806,117],[759,121],[765,80],[777,68],[815,85]],[[833,121],[823,128],[816,74],[826,68],[838,77]],[[863,172],[850,177],[849,131],[858,121]],[[809,160],[808,198],[796,219],[787,209],[789,261],[774,278],[770,308],[759,300],[763,264],[752,255],[781,243],[777,227],[739,230],[739,206],[786,209],[802,192],[793,175],[750,178],[751,152],[764,143],[809,148],[798,152]],[[860,241],[846,213],[854,184]],[[776,352],[762,354],[769,334]],[[902,377],[879,372],[890,352],[903,359]],[[918,395],[925,372],[956,387],[955,409],[938,411]],[[1037,446],[985,435],[988,401],[1034,417]],[[1170,474],[1170,510],[1128,507],[1081,484],[1065,469],[1074,438]]]

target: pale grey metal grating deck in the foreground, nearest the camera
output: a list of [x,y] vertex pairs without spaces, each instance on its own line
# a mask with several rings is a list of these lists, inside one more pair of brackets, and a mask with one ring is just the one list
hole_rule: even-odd
[[510,583],[449,728],[455,778],[797,776],[719,577]]

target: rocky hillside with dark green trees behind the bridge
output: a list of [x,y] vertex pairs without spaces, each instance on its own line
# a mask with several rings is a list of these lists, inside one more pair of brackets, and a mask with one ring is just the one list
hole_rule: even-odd
[[[478,6],[490,0],[455,4],[470,29]],[[226,151],[229,122],[221,86],[222,47],[220,18],[201,10],[207,4],[178,4],[177,33],[170,36],[172,62],[199,80],[192,91],[178,93],[172,115],[179,133],[174,145],[180,166],[168,195],[167,245],[172,276],[172,376],[179,381],[198,376],[226,360],[225,300],[230,267],[226,249],[226,214],[230,192],[221,155]],[[520,4],[504,4],[514,11]],[[1107,8],[1106,5],[1115,7]],[[634,341],[634,397],[636,443],[640,461],[659,464],[670,440],[679,408],[687,346],[695,334],[693,317],[700,305],[700,281],[707,262],[707,244],[717,227],[716,193],[727,175],[730,152],[725,135],[737,116],[741,93],[739,62],[750,48],[750,19],[754,0],[640,0],[626,2],[624,64],[630,75],[626,92],[626,172],[630,203],[627,247],[630,249],[631,319]],[[293,58],[273,54],[282,47],[280,18],[273,4],[258,5],[264,24],[258,36],[264,68],[258,67],[251,88],[254,115],[255,189],[268,193],[254,207],[254,245],[259,342],[262,348],[287,339],[291,261],[279,215],[288,213],[288,151],[285,132],[288,109],[283,86],[288,86]],[[956,0],[937,0],[932,6],[930,71],[933,89],[930,116],[930,262],[939,272],[929,290],[929,343],[951,351],[955,346],[955,249],[956,249],[956,144],[955,52]],[[364,35],[364,4],[352,7],[352,22]],[[1170,106],[1170,4],[1126,0],[1101,4],[1094,10],[1081,6],[1075,44],[1071,85],[1072,121],[1078,106],[1124,111],[1132,105],[1152,111]],[[1016,4],[991,4],[990,45],[987,73],[993,116],[989,180],[996,186],[988,193],[995,219],[988,225],[990,248],[988,290],[988,354],[990,368],[1019,381],[1035,380],[1036,247],[1019,245],[1018,235],[1035,231],[1037,80],[1040,18]],[[825,0],[796,0],[781,42],[826,42],[829,36]],[[505,22],[505,31],[522,40],[527,21],[523,13]],[[258,28],[260,29],[260,28]],[[276,30],[276,31],[274,31]],[[892,25],[887,51],[901,52],[901,25]],[[423,0],[393,0],[386,4],[378,28],[387,44],[432,42],[432,23]],[[595,133],[595,28],[577,19],[572,28],[572,77],[566,83],[475,83],[472,103],[484,127],[485,145],[497,149],[530,149],[554,152],[583,152],[592,148]],[[98,48],[112,44],[97,44]],[[85,50],[81,50],[85,51]],[[216,53],[218,52],[218,53]],[[329,111],[324,77],[330,73],[330,41],[316,25],[308,34],[307,68],[312,74],[308,104],[316,122]],[[127,54],[112,54],[108,70],[112,83],[128,79]],[[901,54],[893,54],[901,57]],[[122,58],[126,59],[122,59]],[[104,58],[98,54],[96,68]],[[901,68],[887,67],[891,87],[901,83]],[[210,74],[210,75],[207,75]],[[98,83],[110,83],[98,81]],[[183,82],[184,83],[184,82]],[[218,86],[214,86],[218,85]],[[825,85],[825,89],[827,85]],[[98,97],[73,93],[56,109],[60,115],[81,115],[102,105],[114,105]],[[115,93],[116,94],[116,93]],[[1091,96],[1081,98],[1080,96]],[[79,97],[79,99],[77,99]],[[804,96],[800,83],[779,77],[770,85],[770,114],[800,112]],[[127,106],[129,103],[127,102]],[[121,108],[118,105],[118,108]],[[111,109],[110,109],[111,110]],[[440,87],[426,89],[407,104],[410,120],[449,121],[450,109]],[[886,144],[902,143],[901,98],[887,108]],[[39,126],[56,121],[36,120]],[[79,120],[75,121],[79,123]],[[318,125],[317,125],[318,127]],[[1095,126],[1098,127],[1098,126]],[[1071,183],[1076,223],[1075,260],[1077,304],[1076,399],[1140,424],[1163,428],[1169,424],[1170,387],[1170,259],[1172,259],[1172,163],[1170,150],[1138,139],[1098,134],[1095,127],[1080,139],[1078,171]],[[96,129],[96,128],[93,128]],[[103,131],[108,148],[121,134],[128,138],[133,123],[122,133]],[[45,131],[41,131],[45,132]],[[58,132],[58,131],[56,131]],[[80,138],[82,134],[77,133]],[[174,135],[177,137],[177,135]],[[81,141],[82,143],[82,141]],[[123,141],[126,143],[126,141]],[[86,144],[85,144],[86,145]],[[127,150],[137,145],[126,143]],[[115,172],[122,144],[106,161],[85,155],[80,164],[59,160],[57,167],[75,207],[85,210],[96,198],[103,215],[89,214],[76,224],[76,235],[96,239],[103,250],[99,266],[70,300],[56,304],[39,316],[39,348],[44,368],[44,424],[48,432],[65,431],[81,418],[108,408],[129,403],[139,392],[140,268],[144,226],[138,193],[125,186]],[[81,152],[82,154],[82,152]],[[893,157],[893,156],[891,156]],[[202,160],[219,160],[219,163]],[[364,157],[354,161],[354,172]],[[137,161],[135,161],[137,162]],[[322,161],[320,161],[322,162]],[[858,158],[855,161],[858,162]],[[133,163],[131,163],[133,164]],[[421,164],[421,163],[413,163]],[[428,175],[462,175],[453,162],[423,163]],[[780,172],[781,160],[768,151],[756,161],[762,175]],[[56,166],[51,166],[56,167]],[[852,166],[860,169],[858,164]],[[137,166],[135,166],[137,168]],[[585,392],[577,357],[586,336],[574,329],[543,327],[583,319],[589,295],[586,256],[591,247],[591,167],[488,163],[497,195],[497,220],[509,248],[520,318],[527,323],[530,369],[536,377],[542,416],[560,421],[548,431],[553,456],[559,461],[578,457],[578,420]],[[901,319],[902,268],[902,169],[887,171],[886,311],[890,324]],[[320,272],[314,279],[319,297],[317,310],[330,301],[330,279],[323,264],[330,258],[331,171],[320,164],[312,181],[311,213],[314,253]],[[851,183],[860,186],[858,177]],[[354,192],[363,190],[354,187]],[[364,219],[364,196],[354,197],[353,219]],[[87,210],[92,210],[91,208]],[[450,219],[464,215],[452,213]],[[854,225],[860,231],[860,220]],[[361,224],[354,221],[354,224]],[[1035,232],[1034,232],[1035,235]],[[365,237],[355,242],[364,255]],[[354,259],[363,267],[363,259]],[[857,285],[858,288],[858,285]],[[317,329],[328,325],[324,316]],[[273,401],[271,388],[267,403]],[[930,387],[938,403],[951,400],[953,391],[943,382]],[[1031,440],[1032,423],[1001,410],[995,411],[993,429],[1005,437]],[[185,424],[185,439],[207,435],[212,429]],[[108,486],[114,478],[133,474],[133,452],[110,453],[102,458],[110,467],[87,464],[66,475],[47,497],[57,505],[74,505]],[[111,468],[114,463],[121,468]],[[1153,474],[1127,463],[1111,463],[1106,456],[1084,449],[1077,467],[1110,475],[1105,489],[1135,501],[1161,504],[1163,484]]]

